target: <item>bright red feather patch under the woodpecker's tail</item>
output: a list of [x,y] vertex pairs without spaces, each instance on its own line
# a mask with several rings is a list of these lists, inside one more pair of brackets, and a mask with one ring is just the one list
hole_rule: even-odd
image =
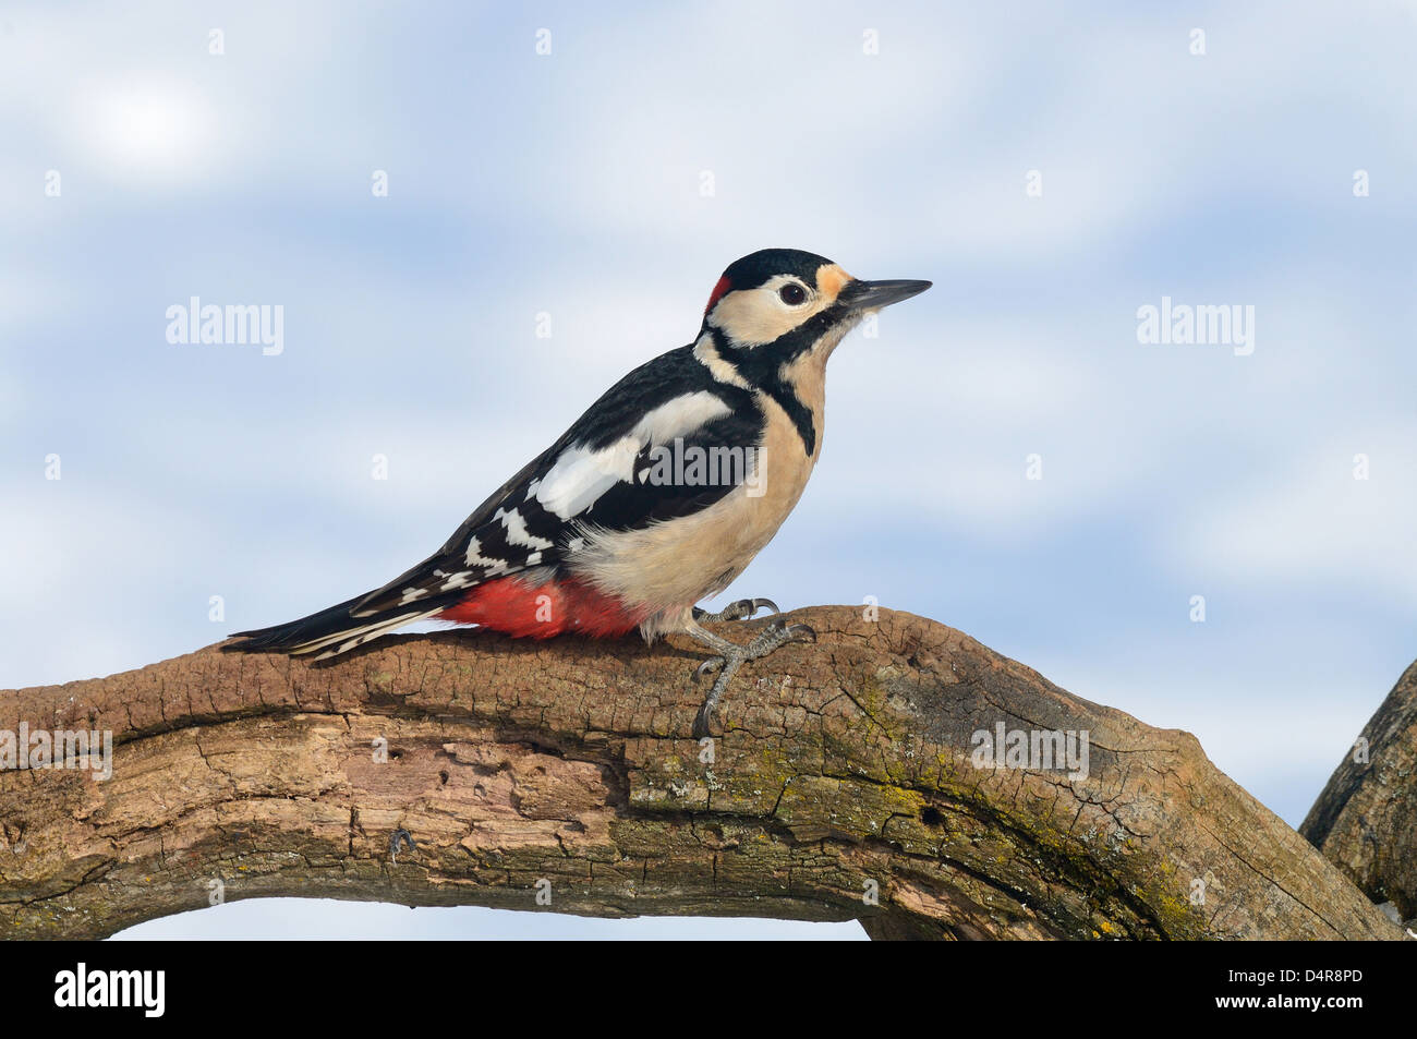
[[436,619],[480,624],[513,638],[551,638],[564,632],[609,638],[633,631],[645,617],[643,611],[628,610],[614,595],[575,580],[531,585],[516,577],[499,577],[479,584]]

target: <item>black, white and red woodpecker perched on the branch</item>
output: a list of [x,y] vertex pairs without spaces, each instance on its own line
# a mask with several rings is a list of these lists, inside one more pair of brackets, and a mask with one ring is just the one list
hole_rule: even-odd
[[238,632],[228,651],[322,661],[412,621],[475,624],[519,638],[564,632],[648,642],[682,632],[713,653],[694,720],[707,736],[734,673],[794,641],[772,621],[747,644],[703,621],[740,621],[771,600],[718,612],[727,588],[792,512],[822,451],[825,371],[866,315],[928,281],[857,281],[801,249],[761,249],[723,272],[693,343],[612,386],[546,451],[478,506],[452,537],[383,588],[289,624]]

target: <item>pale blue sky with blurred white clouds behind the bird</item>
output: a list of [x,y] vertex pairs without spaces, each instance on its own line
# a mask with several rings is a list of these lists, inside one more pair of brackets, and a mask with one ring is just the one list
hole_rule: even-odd
[[[935,288],[837,352],[731,592],[934,617],[1298,824],[1417,656],[1414,35],[1400,3],[0,6],[0,686],[383,584],[788,245]],[[283,353],[169,344],[193,295],[283,306]],[[1162,296],[1254,306],[1254,353],[1138,343]],[[142,933],[533,927],[271,910]]]

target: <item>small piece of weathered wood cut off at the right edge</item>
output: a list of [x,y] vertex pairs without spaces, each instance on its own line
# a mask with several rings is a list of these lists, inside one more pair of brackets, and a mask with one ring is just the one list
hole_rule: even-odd
[[1397,679],[1299,832],[1373,902],[1417,917],[1417,663]]

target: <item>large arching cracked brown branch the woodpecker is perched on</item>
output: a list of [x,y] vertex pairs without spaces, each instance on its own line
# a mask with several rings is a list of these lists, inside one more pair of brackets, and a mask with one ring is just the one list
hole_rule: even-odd
[[[857,919],[877,938],[1400,937],[1193,736],[920,617],[794,619],[820,642],[745,668],[707,747],[701,658],[677,642],[444,632],[329,665],[207,648],[3,693],[0,730],[111,729],[115,753],[102,782],[0,773],[0,928],[102,937],[220,880],[228,900]],[[1088,733],[1087,775],[975,767],[999,723]],[[418,842],[397,862],[395,829]]]

